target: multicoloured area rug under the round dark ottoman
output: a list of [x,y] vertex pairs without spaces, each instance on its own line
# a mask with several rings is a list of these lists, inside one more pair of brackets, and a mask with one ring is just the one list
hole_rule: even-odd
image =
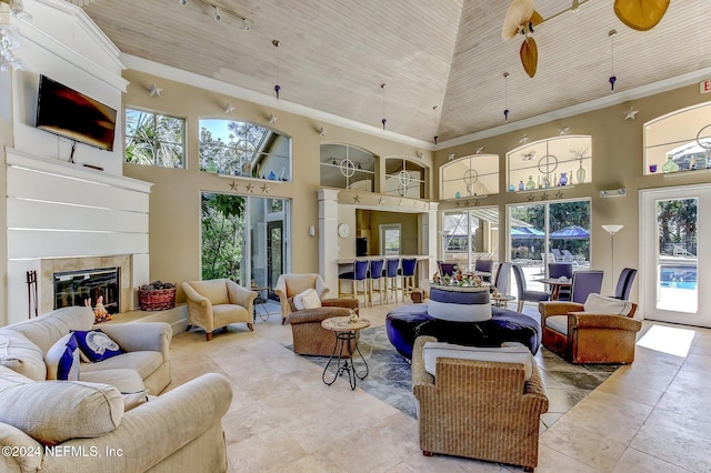
[[[401,356],[390,344],[385,328],[362,330],[358,348],[369,368],[368,376],[362,381],[358,380],[358,388],[417,419],[415,401],[410,382],[410,361]],[[304,355],[303,358],[321,368],[326,366],[329,360],[328,356]],[[617,365],[573,365],[543,348],[537,354],[535,361],[549,390],[552,407],[549,412],[559,413],[584,399],[618,368]],[[356,359],[356,364],[360,366],[360,359]],[[331,363],[329,371],[336,372],[336,370],[337,364]],[[343,376],[342,383],[348,386],[347,375]],[[564,401],[555,402],[553,397],[557,400],[563,397]]]

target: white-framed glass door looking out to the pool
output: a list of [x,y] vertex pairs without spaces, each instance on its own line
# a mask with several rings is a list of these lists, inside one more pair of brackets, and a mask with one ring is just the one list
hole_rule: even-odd
[[711,185],[643,190],[640,207],[644,318],[711,326]]

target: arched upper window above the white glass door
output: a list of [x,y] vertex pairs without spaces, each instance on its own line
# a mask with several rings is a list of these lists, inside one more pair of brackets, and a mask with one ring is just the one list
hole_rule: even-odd
[[711,102],[644,124],[644,173],[711,168]]

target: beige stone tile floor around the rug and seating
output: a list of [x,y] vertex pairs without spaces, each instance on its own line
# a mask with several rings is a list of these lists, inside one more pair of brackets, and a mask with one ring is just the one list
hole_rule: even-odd
[[[373,326],[387,312],[361,309]],[[272,313],[254,332],[236,324],[209,343],[199,332],[171,344],[169,389],[206,372],[231,381],[223,419],[230,472],[521,471],[422,456],[415,420],[346,381],[324,385],[319,366],[284,348],[291,330]],[[645,322],[640,336],[652,328],[632,365],[564,414],[547,414],[538,472],[711,471],[711,330]],[[684,342],[688,353],[679,352]]]

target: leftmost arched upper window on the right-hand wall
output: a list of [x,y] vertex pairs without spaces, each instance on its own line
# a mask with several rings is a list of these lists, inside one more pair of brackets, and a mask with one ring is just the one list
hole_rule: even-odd
[[440,168],[440,199],[499,193],[499,154],[473,154]]

